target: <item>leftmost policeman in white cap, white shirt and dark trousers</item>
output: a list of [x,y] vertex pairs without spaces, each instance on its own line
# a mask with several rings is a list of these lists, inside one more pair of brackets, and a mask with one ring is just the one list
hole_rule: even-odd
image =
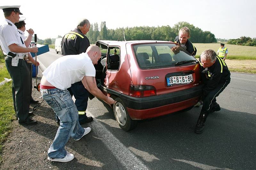
[[37,122],[28,117],[30,105],[29,70],[26,63],[28,52],[37,53],[36,47],[27,48],[17,27],[20,5],[0,6],[5,20],[0,24],[0,45],[5,57],[5,66],[12,78],[12,98],[19,124],[33,125]]

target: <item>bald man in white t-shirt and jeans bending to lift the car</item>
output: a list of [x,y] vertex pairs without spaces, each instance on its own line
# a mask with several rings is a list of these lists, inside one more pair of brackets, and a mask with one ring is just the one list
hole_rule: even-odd
[[66,55],[55,60],[43,72],[40,89],[43,99],[60,119],[60,127],[52,145],[48,150],[48,160],[68,162],[74,155],[65,150],[70,136],[74,140],[81,139],[91,131],[91,128],[82,128],[78,121],[78,110],[68,92],[71,84],[81,81],[84,87],[94,96],[108,104],[115,101],[105,96],[97,87],[94,64],[101,57],[98,46],[89,46],[86,53]]

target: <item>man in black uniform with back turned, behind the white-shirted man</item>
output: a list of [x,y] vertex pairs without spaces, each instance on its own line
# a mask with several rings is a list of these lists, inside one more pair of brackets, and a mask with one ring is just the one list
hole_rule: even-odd
[[[88,19],[83,19],[77,25],[77,28],[71,32],[68,32],[61,41],[62,56],[64,55],[76,55],[85,53],[90,46],[89,39],[85,34],[90,29],[90,22]],[[89,123],[93,120],[92,117],[86,116],[86,108],[88,101],[88,91],[84,88],[82,81],[76,82],[68,88],[71,96],[75,96],[76,108],[78,110],[79,123]]]

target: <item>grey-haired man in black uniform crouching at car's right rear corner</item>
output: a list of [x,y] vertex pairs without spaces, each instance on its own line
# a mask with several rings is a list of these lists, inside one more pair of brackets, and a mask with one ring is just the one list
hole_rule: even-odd
[[220,110],[220,105],[216,102],[216,97],[229,84],[230,72],[226,63],[213,50],[205,50],[200,55],[199,62],[205,86],[202,96],[203,107],[196,123],[195,133],[201,134],[209,113]]

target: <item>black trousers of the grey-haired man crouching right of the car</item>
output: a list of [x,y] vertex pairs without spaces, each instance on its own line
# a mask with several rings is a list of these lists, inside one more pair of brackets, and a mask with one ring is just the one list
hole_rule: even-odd
[[203,101],[203,107],[202,111],[204,112],[211,112],[212,108],[217,105],[216,103],[216,97],[220,95],[220,93],[228,86],[230,83],[230,79],[228,79],[224,83],[219,83],[218,86],[210,91],[207,96],[202,98]]

